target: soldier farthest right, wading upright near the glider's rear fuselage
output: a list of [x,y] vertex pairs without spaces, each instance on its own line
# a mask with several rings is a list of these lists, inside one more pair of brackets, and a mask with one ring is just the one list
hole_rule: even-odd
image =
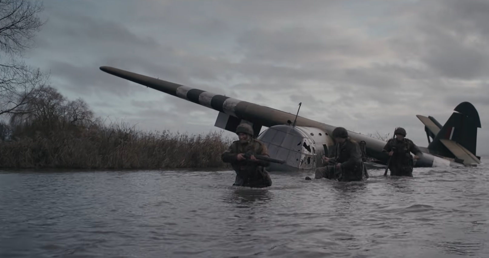
[[396,128],[394,131],[396,135],[395,139],[389,139],[384,146],[383,152],[389,154],[391,163],[389,169],[391,170],[391,176],[413,176],[413,156],[414,159],[419,159],[422,156],[421,150],[414,144],[413,141],[405,138],[406,130],[402,127]]

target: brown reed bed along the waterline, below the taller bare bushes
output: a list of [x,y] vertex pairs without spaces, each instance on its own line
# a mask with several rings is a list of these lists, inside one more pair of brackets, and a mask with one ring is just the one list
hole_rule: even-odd
[[109,125],[81,133],[52,131],[0,145],[0,166],[9,168],[159,169],[226,168],[231,139],[207,135],[141,132]]

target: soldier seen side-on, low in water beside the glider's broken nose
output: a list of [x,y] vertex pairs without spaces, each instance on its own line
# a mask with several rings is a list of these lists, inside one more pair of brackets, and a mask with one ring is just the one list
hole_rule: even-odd
[[[348,136],[348,131],[343,127],[333,130],[336,153],[334,158],[323,156],[323,161],[328,164],[316,169],[314,179],[337,179],[342,182],[362,181],[367,178],[367,168],[363,164],[362,152],[358,143]],[[306,177],[306,180],[311,178]]]

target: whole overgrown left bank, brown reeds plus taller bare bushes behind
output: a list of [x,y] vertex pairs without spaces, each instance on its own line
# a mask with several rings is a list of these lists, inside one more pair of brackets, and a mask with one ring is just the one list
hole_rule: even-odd
[[[38,89],[23,111],[0,123],[1,168],[160,169],[227,168],[232,139],[145,132],[105,123],[83,99],[67,100],[52,87]],[[10,140],[9,140],[10,139]]]

